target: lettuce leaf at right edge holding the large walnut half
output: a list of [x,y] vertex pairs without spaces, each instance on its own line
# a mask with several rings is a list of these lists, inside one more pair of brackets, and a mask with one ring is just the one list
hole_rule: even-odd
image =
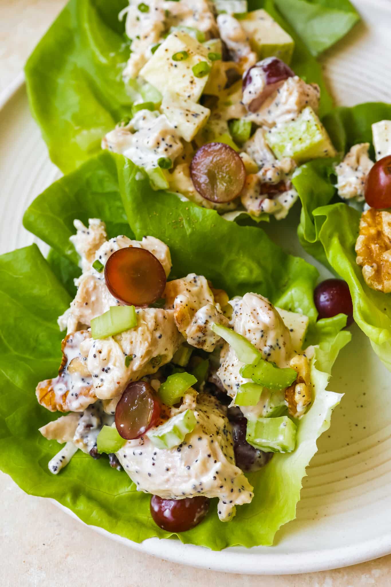
[[[341,156],[353,144],[368,142],[374,159],[371,125],[384,119],[391,119],[391,104],[370,102],[336,108],[322,122]],[[391,370],[391,302],[388,295],[366,285],[356,264],[361,212],[335,195],[334,163],[311,161],[294,174],[293,184],[302,203],[298,237],[308,253],[348,283],[355,321]]]

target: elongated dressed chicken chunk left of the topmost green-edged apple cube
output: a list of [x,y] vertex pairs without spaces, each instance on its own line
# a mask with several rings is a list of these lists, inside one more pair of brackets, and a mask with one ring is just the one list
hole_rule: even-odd
[[251,50],[249,36],[240,22],[230,14],[219,14],[217,26],[234,61],[239,62],[243,72],[257,62],[257,54]]

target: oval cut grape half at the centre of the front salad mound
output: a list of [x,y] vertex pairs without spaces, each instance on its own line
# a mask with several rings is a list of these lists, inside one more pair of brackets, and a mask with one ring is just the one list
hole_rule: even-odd
[[115,408],[115,427],[126,440],[140,438],[155,426],[160,416],[160,402],[154,389],[145,381],[128,385]]

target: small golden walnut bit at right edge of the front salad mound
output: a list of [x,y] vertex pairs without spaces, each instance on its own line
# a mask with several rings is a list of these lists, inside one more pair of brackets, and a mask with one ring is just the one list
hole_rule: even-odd
[[285,402],[290,416],[301,418],[311,403],[310,364],[305,355],[295,355],[289,365],[297,372],[297,379],[285,389]]

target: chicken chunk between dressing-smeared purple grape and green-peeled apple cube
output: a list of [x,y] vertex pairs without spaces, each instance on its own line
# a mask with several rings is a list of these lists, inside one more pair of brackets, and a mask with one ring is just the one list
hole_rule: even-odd
[[274,124],[295,119],[307,106],[318,112],[319,97],[320,90],[316,83],[305,83],[298,76],[288,77],[257,112],[246,114],[246,119],[259,126],[272,127]]

